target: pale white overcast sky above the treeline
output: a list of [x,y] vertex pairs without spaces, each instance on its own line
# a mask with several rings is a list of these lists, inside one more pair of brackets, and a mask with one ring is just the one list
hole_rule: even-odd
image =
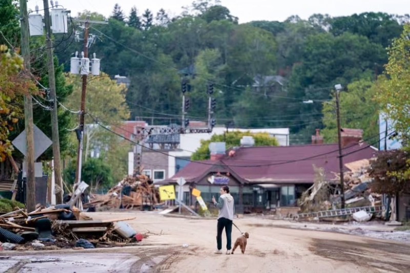
[[[150,9],[154,14],[161,8],[172,16],[182,12],[182,6],[189,6],[194,0],[59,0],[58,5],[71,10],[71,16],[77,12],[89,10],[108,17],[114,5],[120,4],[121,9],[128,16],[132,6],[136,6],[139,14]],[[55,4],[54,0],[54,4]],[[329,14],[332,17],[352,15],[362,12],[386,12],[388,14],[404,15],[410,13],[408,0],[221,0],[222,6],[227,7],[231,14],[239,17],[239,23],[253,20],[270,20],[283,22],[292,15],[308,19],[315,13]],[[43,9],[43,0],[29,0],[28,8],[34,10],[38,5]],[[49,4],[50,5],[50,4]],[[41,12],[42,13],[42,12]]]

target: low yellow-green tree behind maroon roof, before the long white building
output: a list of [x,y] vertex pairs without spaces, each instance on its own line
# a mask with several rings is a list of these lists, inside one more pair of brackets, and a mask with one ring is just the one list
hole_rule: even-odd
[[240,140],[243,136],[252,136],[255,140],[255,146],[278,146],[276,138],[271,137],[269,133],[251,133],[231,131],[222,135],[213,135],[210,140],[201,140],[200,147],[192,154],[191,160],[206,160],[211,154],[209,151],[209,143],[211,142],[225,142],[226,148],[240,146]]

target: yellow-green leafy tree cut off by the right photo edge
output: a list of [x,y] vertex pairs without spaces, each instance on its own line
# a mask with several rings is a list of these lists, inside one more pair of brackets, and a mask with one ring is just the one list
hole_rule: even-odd
[[386,75],[377,94],[382,111],[395,121],[395,129],[402,134],[403,140],[410,137],[410,24],[403,27],[399,38],[393,40],[388,48]]

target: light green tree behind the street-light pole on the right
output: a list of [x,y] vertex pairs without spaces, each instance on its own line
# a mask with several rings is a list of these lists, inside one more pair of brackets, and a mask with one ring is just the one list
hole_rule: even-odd
[[[341,127],[363,130],[363,139],[368,143],[378,142],[378,103],[374,97],[377,83],[361,79],[347,85],[347,90],[339,92]],[[337,142],[337,119],[335,98],[323,103],[322,135],[325,142]]]

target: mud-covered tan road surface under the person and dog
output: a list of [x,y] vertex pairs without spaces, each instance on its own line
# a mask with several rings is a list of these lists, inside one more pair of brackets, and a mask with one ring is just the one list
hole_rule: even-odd
[[[316,230],[265,225],[267,220],[242,218],[234,222],[248,232],[245,254],[214,254],[215,219],[170,218],[150,212],[89,213],[93,219],[136,217],[127,221],[137,232],[149,233],[141,246],[43,252],[43,259],[59,259],[59,272],[408,272],[410,245]],[[260,223],[260,225],[255,225]],[[240,232],[233,227],[232,240]],[[188,244],[184,247],[184,244]],[[226,237],[222,236],[226,250]],[[3,251],[4,252],[4,251]],[[0,253],[0,256],[5,253]],[[33,258],[37,253],[14,251],[7,262]],[[36,255],[34,257],[37,257]],[[1,258],[1,257],[0,257]],[[40,259],[40,258],[38,258]],[[77,260],[76,260],[77,259]],[[2,264],[5,260],[1,260]],[[27,263],[16,272],[55,272],[60,262]],[[54,266],[54,269],[52,267]],[[67,265],[68,266],[68,265]],[[50,268],[50,270],[48,270]],[[102,270],[104,268],[104,270]],[[0,265],[0,271],[2,271]],[[75,270],[74,270],[75,269]]]

